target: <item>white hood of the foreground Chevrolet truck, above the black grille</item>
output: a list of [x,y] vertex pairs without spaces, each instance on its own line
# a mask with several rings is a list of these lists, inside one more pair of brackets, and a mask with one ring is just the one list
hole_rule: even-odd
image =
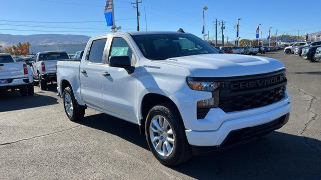
[[284,68],[276,59],[239,54],[200,54],[156,60],[189,68],[195,77],[229,77],[272,72]]

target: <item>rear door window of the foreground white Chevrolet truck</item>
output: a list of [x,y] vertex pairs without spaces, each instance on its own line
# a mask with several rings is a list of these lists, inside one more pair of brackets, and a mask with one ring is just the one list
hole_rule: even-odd
[[101,63],[106,41],[107,38],[92,41],[88,55],[89,62]]

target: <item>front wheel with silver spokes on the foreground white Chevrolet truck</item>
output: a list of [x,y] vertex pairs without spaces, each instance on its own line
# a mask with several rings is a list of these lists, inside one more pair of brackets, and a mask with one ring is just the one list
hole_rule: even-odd
[[156,159],[165,165],[177,165],[192,156],[183,120],[171,103],[152,107],[145,123],[148,146]]

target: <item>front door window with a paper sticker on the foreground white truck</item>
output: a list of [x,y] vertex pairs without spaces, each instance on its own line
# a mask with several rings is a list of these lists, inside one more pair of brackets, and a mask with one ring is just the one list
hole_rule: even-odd
[[128,55],[131,61],[131,64],[136,63],[135,56],[132,53],[132,50],[126,40],[122,37],[114,37],[111,49],[110,56],[120,56]]

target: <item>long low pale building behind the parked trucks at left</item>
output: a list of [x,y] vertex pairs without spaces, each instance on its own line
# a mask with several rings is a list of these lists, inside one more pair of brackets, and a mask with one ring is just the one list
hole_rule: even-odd
[[50,44],[50,45],[30,45],[29,53],[36,54],[43,51],[65,50],[68,54],[84,50],[87,43],[68,43],[68,44]]

